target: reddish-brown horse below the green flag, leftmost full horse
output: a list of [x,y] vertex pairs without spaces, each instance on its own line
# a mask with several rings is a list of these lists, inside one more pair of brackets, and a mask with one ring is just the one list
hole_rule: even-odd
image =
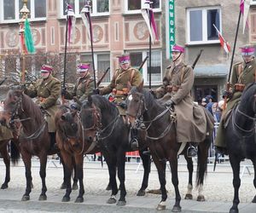
[[16,119],[19,119],[21,124],[21,131],[17,140],[19,141],[20,154],[26,170],[26,192],[21,200],[27,201],[30,199],[32,191],[32,156],[37,156],[40,162],[39,174],[42,180],[42,190],[38,199],[46,200],[47,155],[55,154],[56,151],[50,151],[50,135],[44,113],[19,88],[9,89],[4,101],[4,112],[8,118],[1,118],[0,122],[13,123]]

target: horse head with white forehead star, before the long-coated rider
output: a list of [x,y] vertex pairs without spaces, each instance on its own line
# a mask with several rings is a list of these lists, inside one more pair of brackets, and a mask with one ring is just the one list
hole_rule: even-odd
[[137,119],[142,118],[143,113],[148,110],[145,103],[145,95],[143,93],[143,82],[137,87],[129,88],[130,93],[126,99],[127,111],[126,114],[129,122],[133,125]]

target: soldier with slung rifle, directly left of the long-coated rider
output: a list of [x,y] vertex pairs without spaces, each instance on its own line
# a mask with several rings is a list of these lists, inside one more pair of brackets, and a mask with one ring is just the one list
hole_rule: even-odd
[[[110,82],[110,84],[102,89],[94,89],[94,93],[99,95],[107,95],[109,93],[112,93],[114,95],[114,103],[119,109],[119,114],[123,116],[125,122],[126,122],[126,104],[125,99],[128,95],[128,87],[127,83],[130,82],[131,86],[138,86],[140,83],[142,83],[143,78],[141,73],[131,67],[131,61],[130,61],[130,55],[120,55],[118,56],[119,59],[119,66],[120,68],[117,69],[113,73],[113,78]],[[133,134],[135,137],[137,137],[137,134]],[[131,148],[137,149],[138,142],[137,139],[131,141]]]

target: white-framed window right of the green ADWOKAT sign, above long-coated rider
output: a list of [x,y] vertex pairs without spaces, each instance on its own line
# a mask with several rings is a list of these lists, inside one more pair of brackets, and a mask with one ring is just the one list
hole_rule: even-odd
[[221,32],[221,14],[219,8],[200,8],[187,10],[187,30],[189,44],[219,43],[218,32]]

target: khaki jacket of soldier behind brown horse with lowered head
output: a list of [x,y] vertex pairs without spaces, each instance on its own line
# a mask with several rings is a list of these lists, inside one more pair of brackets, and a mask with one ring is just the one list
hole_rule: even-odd
[[79,101],[84,101],[88,95],[92,94],[93,89],[93,78],[90,78],[90,74],[88,73],[84,78],[79,78],[75,83],[72,93],[67,92],[64,97],[67,100],[72,100],[76,96]]

